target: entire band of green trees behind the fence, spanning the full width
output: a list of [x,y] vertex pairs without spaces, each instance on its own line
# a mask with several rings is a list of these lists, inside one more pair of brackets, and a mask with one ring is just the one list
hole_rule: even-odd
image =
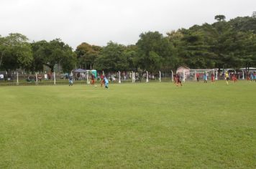
[[180,65],[191,68],[239,68],[256,66],[256,18],[245,16],[214,24],[191,26],[166,35],[145,32],[134,45],[109,42],[106,47],[86,42],[72,48],[60,39],[29,43],[22,34],[0,36],[0,69],[42,71],[43,65],[63,72],[75,67],[106,72],[135,70],[170,71]]

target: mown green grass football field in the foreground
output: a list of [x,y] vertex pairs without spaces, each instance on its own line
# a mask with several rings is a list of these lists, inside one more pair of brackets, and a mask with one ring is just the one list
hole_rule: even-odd
[[255,90],[0,87],[0,168],[256,168]]

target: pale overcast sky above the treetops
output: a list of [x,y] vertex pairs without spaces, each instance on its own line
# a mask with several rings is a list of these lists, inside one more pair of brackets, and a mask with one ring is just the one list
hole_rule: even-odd
[[165,34],[193,24],[251,16],[256,0],[0,0],[0,34],[21,33],[31,41],[60,38],[81,42],[135,44],[142,32]]

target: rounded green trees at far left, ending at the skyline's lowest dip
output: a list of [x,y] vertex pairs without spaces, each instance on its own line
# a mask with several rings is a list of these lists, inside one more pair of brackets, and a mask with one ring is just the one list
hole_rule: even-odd
[[42,71],[44,65],[54,72],[55,64],[60,64],[64,72],[70,72],[76,62],[72,48],[60,39],[29,43],[22,34],[0,37],[0,69],[7,72],[17,69],[37,72]]

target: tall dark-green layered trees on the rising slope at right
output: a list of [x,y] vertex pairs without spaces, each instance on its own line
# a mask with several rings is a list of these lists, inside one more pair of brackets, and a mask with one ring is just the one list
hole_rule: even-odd
[[[249,17],[250,18],[250,17]],[[248,67],[255,65],[255,33],[253,19],[248,17],[214,24],[194,25],[168,33],[170,42],[178,51],[179,63],[191,68]],[[236,22],[247,23],[247,29]],[[181,34],[180,34],[181,33]]]

